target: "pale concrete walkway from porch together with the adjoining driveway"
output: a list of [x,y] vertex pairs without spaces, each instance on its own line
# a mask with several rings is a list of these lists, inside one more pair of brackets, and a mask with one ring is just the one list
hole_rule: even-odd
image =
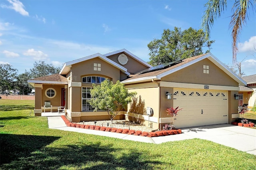
[[50,116],[42,116],[47,116],[48,127],[52,129],[95,134],[100,136],[108,136],[112,138],[120,138],[124,140],[134,140],[155,144],[176,140],[200,138],[256,155],[256,129],[252,128],[239,127],[229,124],[209,125],[202,127],[182,128],[182,134],[150,138],[99,130],[67,127],[60,115],[51,114]]

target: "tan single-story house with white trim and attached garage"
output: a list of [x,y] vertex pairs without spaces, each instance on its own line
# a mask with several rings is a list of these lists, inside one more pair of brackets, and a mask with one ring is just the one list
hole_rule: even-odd
[[64,106],[73,122],[109,119],[107,112],[94,112],[86,102],[92,83],[100,84],[104,79],[113,83],[120,80],[128,91],[136,91],[137,97],[144,100],[147,113],[152,113],[130,113],[128,105],[116,119],[134,117],[154,129],[170,123],[168,107],[182,109],[174,122],[178,128],[231,124],[239,117],[235,99],[239,85],[246,85],[211,53],[152,67],[121,49],[69,61],[59,74],[28,80],[36,91],[35,115],[40,116],[44,102],[50,101],[53,111]]

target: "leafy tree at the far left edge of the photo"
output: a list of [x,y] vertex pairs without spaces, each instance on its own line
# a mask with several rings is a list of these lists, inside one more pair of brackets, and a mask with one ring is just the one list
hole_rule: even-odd
[[16,80],[17,71],[10,64],[0,64],[0,91],[12,89],[12,83]]

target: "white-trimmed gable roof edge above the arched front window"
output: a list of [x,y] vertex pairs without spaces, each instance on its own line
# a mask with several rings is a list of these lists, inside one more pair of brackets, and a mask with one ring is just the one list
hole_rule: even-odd
[[73,64],[80,63],[80,62],[83,62],[83,61],[86,61],[86,60],[89,60],[89,59],[93,59],[93,58],[96,58],[96,57],[99,57],[100,59],[102,59],[102,60],[106,61],[107,63],[113,65],[114,67],[120,69],[120,71],[122,71],[126,75],[130,75],[130,73],[127,72],[127,69],[125,67],[119,65],[118,63],[112,61],[111,59],[105,57],[104,55],[102,55],[100,53],[96,53],[96,54],[93,54],[93,55],[89,55],[89,56],[86,56],[86,57],[83,57],[83,58],[80,58],[80,59],[76,59],[76,60],[64,63],[64,66],[62,67],[62,69],[60,71],[60,74],[61,75],[67,74],[71,70],[71,67],[72,67]]

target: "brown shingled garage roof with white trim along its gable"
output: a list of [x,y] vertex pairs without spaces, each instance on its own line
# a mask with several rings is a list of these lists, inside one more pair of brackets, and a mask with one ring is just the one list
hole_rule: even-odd
[[222,71],[224,71],[226,74],[228,74],[230,77],[232,77],[232,79],[237,81],[239,83],[239,85],[246,85],[246,82],[243,79],[238,77],[238,75],[236,75],[233,71],[231,71],[225,64],[223,64],[220,60],[218,60],[216,57],[214,57],[214,55],[212,55],[212,53],[206,53],[206,54],[190,57],[187,59],[183,59],[181,62],[178,62],[177,64],[167,67],[165,69],[160,69],[160,70],[151,71],[151,72],[142,73],[142,74],[138,73],[136,75],[132,75],[131,78],[122,81],[122,83],[126,84],[126,83],[133,83],[133,82],[134,83],[135,82],[143,82],[143,81],[149,81],[151,79],[160,80],[162,77],[164,77],[166,75],[174,73],[180,69],[188,67],[188,66],[190,66],[198,61],[201,61],[203,59],[206,59],[206,58],[208,58],[216,66],[218,66],[220,69],[222,69]]

